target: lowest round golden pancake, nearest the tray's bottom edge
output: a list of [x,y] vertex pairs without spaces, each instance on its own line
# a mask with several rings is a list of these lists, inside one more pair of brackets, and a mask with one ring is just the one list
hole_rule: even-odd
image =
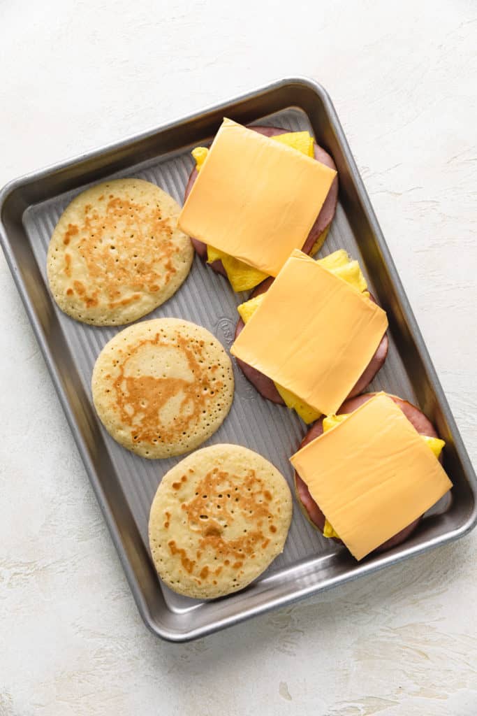
[[214,599],[250,584],[283,551],[292,517],[285,478],[252,450],[212,445],[162,478],[149,546],[165,584]]

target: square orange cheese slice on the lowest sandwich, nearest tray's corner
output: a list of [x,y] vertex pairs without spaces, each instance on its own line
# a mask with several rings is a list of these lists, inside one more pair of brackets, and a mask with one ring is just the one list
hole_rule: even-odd
[[410,525],[452,487],[432,450],[384,393],[290,460],[356,559]]

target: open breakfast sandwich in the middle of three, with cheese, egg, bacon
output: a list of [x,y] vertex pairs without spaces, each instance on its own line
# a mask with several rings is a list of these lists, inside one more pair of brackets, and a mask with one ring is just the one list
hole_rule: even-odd
[[307,423],[362,391],[388,352],[385,311],[342,250],[315,261],[295,249],[238,311],[230,352],[264,397]]

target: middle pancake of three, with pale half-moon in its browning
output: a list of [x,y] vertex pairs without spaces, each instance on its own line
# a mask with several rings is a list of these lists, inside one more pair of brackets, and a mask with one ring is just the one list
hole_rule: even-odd
[[194,450],[222,424],[234,395],[232,363],[202,326],[142,321],[104,346],[92,393],[114,440],[143,458],[169,458]]

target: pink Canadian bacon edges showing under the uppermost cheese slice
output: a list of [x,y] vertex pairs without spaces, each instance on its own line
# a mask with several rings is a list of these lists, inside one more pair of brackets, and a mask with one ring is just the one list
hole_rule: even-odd
[[[265,137],[274,137],[276,135],[280,134],[287,134],[290,130],[282,130],[278,127],[259,127],[259,126],[250,126],[249,129],[254,130],[255,132],[258,132],[259,134],[265,135]],[[330,167],[330,169],[336,170],[336,165],[333,162],[333,159],[330,157],[330,155],[325,152],[325,150],[322,147],[319,147],[316,142],[314,145],[315,150],[315,159],[318,160],[318,162],[325,164],[327,167]],[[190,194],[190,190],[192,189],[192,185],[194,184],[195,180],[197,179],[197,169],[193,169],[190,173],[189,180],[187,182],[187,186],[185,188],[184,193],[184,202],[187,199],[187,197]],[[338,175],[333,180],[333,183],[330,187],[330,190],[328,192],[328,195],[325,199],[325,202],[323,203],[323,206],[320,210],[320,213],[318,214],[318,217],[316,218],[315,223],[313,224],[312,228],[310,229],[310,233],[308,234],[308,237],[303,245],[303,251],[304,253],[310,253],[313,246],[315,246],[315,242],[318,239],[318,236],[325,231],[325,228],[327,226],[330,226],[331,221],[333,220],[333,216],[335,216],[335,210],[336,210],[336,204],[338,203]],[[190,240],[192,241],[195,251],[199,254],[200,258],[202,258],[204,261],[207,261],[207,245],[203,243],[203,241],[199,241],[197,238],[190,237]],[[222,276],[227,276],[224,266],[222,264],[222,261],[220,259],[217,259],[217,261],[213,261],[210,264],[211,268],[217,272],[217,274],[222,274]]]

